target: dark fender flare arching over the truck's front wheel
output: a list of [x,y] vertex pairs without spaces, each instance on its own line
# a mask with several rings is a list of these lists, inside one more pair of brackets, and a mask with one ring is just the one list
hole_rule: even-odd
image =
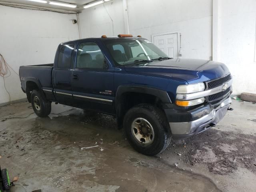
[[172,103],[168,93],[164,90],[147,86],[121,85],[116,90],[115,108],[118,108],[121,96],[125,92],[145,93],[158,97],[163,103]]

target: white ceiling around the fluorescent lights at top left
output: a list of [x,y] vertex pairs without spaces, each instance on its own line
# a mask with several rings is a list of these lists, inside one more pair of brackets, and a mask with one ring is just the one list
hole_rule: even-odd
[[40,7],[46,7],[46,8],[56,8],[56,9],[68,10],[68,11],[83,10],[84,9],[84,4],[88,4],[88,3],[93,2],[95,0],[61,0],[61,1],[52,0],[52,1],[76,4],[77,8],[68,8],[68,7],[63,7],[63,6],[50,5],[48,3],[38,3],[38,2],[32,2],[32,1],[27,1],[27,0],[0,0],[0,2],[9,2],[9,3],[33,5],[33,6],[40,6]]

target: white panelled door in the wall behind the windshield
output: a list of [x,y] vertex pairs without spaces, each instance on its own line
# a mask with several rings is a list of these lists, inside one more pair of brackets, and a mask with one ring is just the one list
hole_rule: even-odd
[[154,44],[166,55],[172,58],[178,57],[178,33],[156,35],[153,37]]

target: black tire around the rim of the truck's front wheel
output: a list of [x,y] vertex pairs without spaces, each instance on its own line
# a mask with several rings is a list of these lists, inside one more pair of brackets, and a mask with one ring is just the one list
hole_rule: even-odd
[[[154,139],[151,144],[144,145],[136,140],[132,133],[132,123],[137,118],[146,119],[154,130]],[[170,144],[172,134],[166,116],[162,110],[150,104],[140,104],[128,110],[124,116],[124,131],[132,147],[145,155],[154,156],[163,152]]]

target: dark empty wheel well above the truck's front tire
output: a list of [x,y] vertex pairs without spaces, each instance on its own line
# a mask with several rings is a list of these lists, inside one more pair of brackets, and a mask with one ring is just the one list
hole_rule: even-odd
[[120,100],[118,100],[118,105],[116,108],[118,126],[122,126],[124,115],[130,108],[142,103],[156,105],[161,108],[162,101],[160,98],[151,94],[137,92],[123,93],[120,96]]

